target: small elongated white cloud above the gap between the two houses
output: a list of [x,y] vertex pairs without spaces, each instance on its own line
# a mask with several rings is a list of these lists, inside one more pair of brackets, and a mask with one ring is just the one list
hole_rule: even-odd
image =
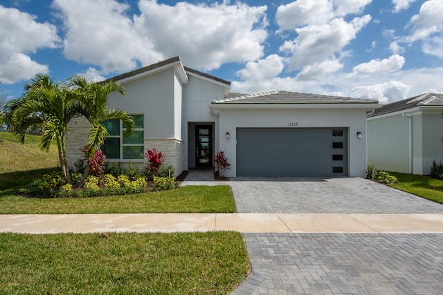
[[351,76],[370,77],[372,75],[381,75],[383,73],[394,72],[404,65],[404,57],[401,55],[392,55],[388,59],[372,59],[371,61],[359,64],[352,68]]

